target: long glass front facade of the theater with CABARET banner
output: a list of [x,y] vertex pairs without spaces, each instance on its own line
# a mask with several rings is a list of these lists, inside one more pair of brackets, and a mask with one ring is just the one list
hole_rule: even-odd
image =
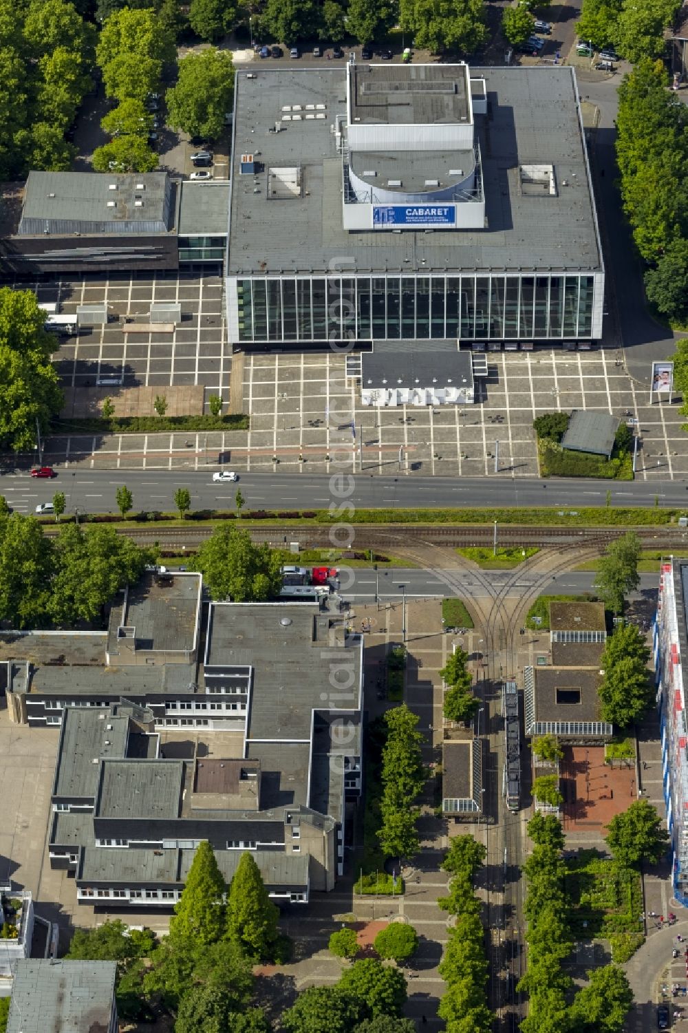
[[238,343],[585,339],[593,336],[600,307],[595,279],[580,273],[238,277],[229,328]]

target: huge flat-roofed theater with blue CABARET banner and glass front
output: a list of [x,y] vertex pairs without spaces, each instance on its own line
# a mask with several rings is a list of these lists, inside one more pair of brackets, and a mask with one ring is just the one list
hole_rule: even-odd
[[601,337],[570,67],[239,71],[231,181],[234,347]]

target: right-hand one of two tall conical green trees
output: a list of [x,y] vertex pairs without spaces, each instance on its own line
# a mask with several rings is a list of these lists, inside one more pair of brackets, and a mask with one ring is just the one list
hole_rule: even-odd
[[227,936],[247,957],[273,961],[278,919],[279,909],[268,896],[258,866],[250,853],[243,853],[229,886]]

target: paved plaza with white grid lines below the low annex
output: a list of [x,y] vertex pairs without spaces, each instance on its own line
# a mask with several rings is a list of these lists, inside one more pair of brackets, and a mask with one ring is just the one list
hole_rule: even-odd
[[[209,393],[228,392],[229,347],[223,343],[219,276],[103,273],[57,283],[8,285],[31,287],[39,302],[57,303],[65,315],[75,313],[79,305],[107,305],[106,325],[82,326],[79,335],[60,338],[55,363],[67,386],[121,379],[124,386],[199,384]],[[124,320],[148,322],[154,302],[179,302],[182,322],[173,333],[126,335]]]

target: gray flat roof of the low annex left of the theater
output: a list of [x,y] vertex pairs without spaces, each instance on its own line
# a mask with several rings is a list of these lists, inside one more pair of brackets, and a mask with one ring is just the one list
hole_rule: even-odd
[[174,225],[173,194],[166,173],[32,171],[19,236],[165,233]]

